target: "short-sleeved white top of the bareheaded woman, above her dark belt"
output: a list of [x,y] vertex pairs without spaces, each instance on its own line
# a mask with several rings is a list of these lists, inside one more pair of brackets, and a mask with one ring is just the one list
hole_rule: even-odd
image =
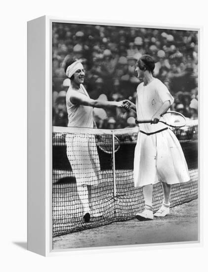
[[[165,101],[173,103],[174,98],[168,91],[165,84],[154,78],[147,86],[140,83],[137,87],[136,113],[138,120],[151,120]],[[140,130],[146,133],[153,133],[167,126],[161,122],[158,124],[139,124]]]

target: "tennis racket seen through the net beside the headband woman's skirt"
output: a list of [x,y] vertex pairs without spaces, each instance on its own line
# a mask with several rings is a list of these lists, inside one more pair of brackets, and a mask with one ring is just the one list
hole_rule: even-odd
[[97,146],[105,153],[112,154],[117,152],[121,146],[120,140],[117,136],[114,136],[115,150],[113,150],[112,136],[110,135],[99,135],[97,136]]

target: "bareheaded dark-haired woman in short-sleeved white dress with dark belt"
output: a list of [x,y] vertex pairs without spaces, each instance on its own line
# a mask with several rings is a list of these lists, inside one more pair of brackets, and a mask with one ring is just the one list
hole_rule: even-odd
[[[159,122],[168,111],[174,98],[166,86],[153,77],[154,59],[143,55],[136,64],[135,72],[143,82],[137,87],[136,105],[130,108],[139,120],[152,120],[140,124],[134,153],[134,186],[143,188],[145,209],[136,215],[140,221],[164,217],[169,214],[171,184],[190,180],[186,160],[180,143],[168,127]],[[162,207],[153,215],[153,184],[162,181],[164,200]]]

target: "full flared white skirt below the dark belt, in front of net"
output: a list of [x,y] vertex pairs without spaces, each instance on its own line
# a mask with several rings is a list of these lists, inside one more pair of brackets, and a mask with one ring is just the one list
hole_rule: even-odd
[[182,148],[171,130],[149,136],[138,133],[134,153],[135,187],[158,181],[174,184],[189,180]]

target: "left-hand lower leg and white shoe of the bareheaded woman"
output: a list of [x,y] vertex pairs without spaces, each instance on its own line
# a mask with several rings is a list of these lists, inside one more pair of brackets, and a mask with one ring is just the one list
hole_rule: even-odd
[[148,184],[142,187],[145,209],[142,213],[136,214],[136,219],[139,221],[152,220],[153,216],[153,207],[152,207],[152,196],[153,196],[153,185]]

